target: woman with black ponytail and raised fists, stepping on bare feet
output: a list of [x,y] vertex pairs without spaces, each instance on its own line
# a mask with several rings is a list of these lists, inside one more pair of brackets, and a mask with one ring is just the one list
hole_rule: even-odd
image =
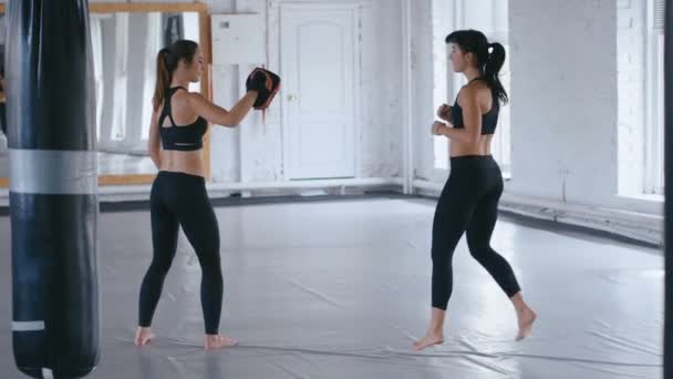
[[432,134],[451,140],[451,174],[442,191],[432,235],[432,314],[425,337],[414,344],[417,350],[444,341],[444,317],[453,291],[452,260],[463,234],[472,256],[491,275],[511,300],[518,320],[516,340],[527,337],[536,314],[524,301],[517,278],[507,260],[490,247],[503,174],[490,154],[500,105],[508,101],[498,74],[505,63],[505,48],[489,43],[484,33],[459,30],[446,37],[451,62],[468,80],[453,106],[446,104],[437,115]]

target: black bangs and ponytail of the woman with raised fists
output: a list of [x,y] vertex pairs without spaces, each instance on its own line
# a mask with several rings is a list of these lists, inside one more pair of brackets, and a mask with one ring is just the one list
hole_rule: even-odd
[[[498,73],[505,64],[505,47],[498,42],[488,43],[486,35],[478,30],[457,30],[446,35],[446,43],[457,44],[463,53],[472,52],[477,57],[479,75],[490,88],[494,96],[501,103],[509,101],[507,91],[500,83]],[[493,51],[488,52],[489,49]]]

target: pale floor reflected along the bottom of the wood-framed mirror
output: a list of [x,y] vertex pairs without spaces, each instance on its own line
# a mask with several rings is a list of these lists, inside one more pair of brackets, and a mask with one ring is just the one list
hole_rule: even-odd
[[[156,174],[149,156],[99,153],[99,175]],[[9,155],[0,152],[0,177],[9,176]]]

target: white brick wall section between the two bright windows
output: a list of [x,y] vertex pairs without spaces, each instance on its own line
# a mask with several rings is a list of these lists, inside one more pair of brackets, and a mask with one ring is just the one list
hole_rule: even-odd
[[605,205],[617,194],[617,3],[510,3],[512,180],[507,190]]

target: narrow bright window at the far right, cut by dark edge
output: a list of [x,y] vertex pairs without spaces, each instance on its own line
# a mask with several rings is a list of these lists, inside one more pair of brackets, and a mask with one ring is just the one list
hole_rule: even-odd
[[663,194],[664,187],[664,4],[665,0],[649,0],[648,71],[645,94],[649,104],[645,124],[644,193]]

